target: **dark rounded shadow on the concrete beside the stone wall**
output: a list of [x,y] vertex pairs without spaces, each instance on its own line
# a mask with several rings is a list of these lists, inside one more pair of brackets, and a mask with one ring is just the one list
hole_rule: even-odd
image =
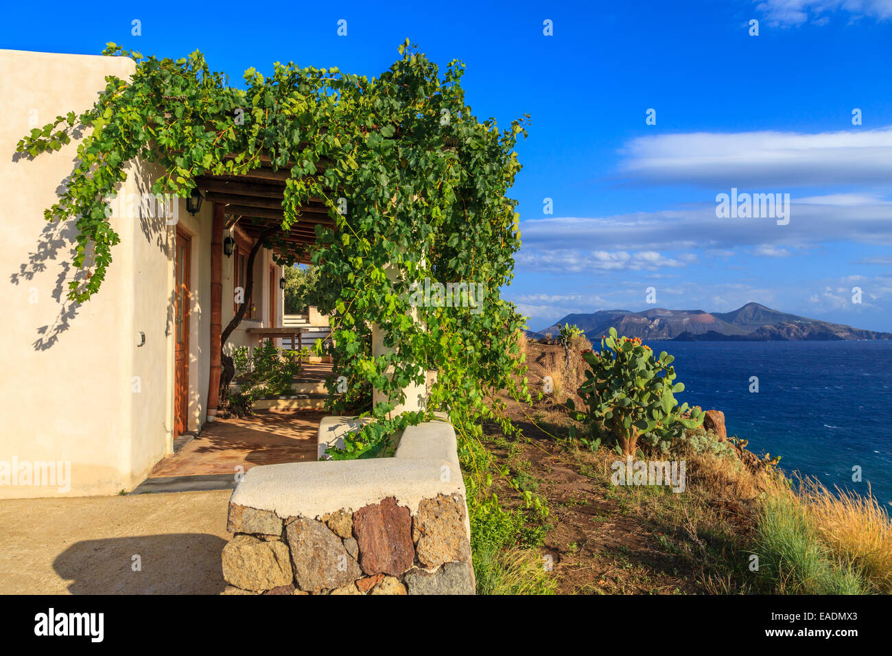
[[71,594],[219,594],[226,544],[206,533],[87,540],[62,552],[53,569]]

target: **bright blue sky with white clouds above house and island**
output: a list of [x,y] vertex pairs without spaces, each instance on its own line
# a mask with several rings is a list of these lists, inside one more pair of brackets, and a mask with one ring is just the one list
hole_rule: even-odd
[[[34,2],[4,8],[0,47],[199,48],[238,83],[276,61],[376,75],[409,37],[436,62],[467,63],[478,116],[532,115],[513,189],[524,245],[505,292],[532,328],[654,307],[652,286],[659,307],[756,301],[892,331],[892,0],[678,5]],[[789,223],[718,218],[731,187],[789,194]]]

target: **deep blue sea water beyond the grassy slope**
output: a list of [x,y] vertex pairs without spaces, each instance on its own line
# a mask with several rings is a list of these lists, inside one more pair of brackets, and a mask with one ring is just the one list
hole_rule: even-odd
[[675,356],[679,403],[723,411],[728,435],[782,456],[788,476],[797,469],[861,494],[870,483],[880,503],[892,502],[892,341],[649,345]]

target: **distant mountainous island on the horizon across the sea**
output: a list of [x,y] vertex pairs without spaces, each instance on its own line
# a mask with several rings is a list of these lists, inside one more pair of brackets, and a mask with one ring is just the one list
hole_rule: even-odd
[[527,331],[529,336],[558,336],[558,324],[571,323],[582,329],[592,344],[607,330],[641,339],[677,342],[771,342],[831,341],[852,339],[892,339],[892,333],[852,328],[839,323],[808,319],[772,310],[759,303],[747,303],[731,312],[702,310],[599,310],[589,314],[568,314],[549,328]]

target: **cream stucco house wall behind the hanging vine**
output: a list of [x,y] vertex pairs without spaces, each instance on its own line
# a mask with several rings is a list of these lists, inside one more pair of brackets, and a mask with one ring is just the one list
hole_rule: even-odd
[[[15,155],[30,129],[87,110],[105,86],[104,76],[126,79],[134,66],[122,57],[0,50],[6,108],[0,121],[0,286],[11,310],[0,328],[0,498],[117,494],[138,485],[172,453],[179,432],[173,311],[178,231],[191,251],[184,430],[197,430],[207,419],[213,203],[202,203],[192,216],[179,200],[174,225],[163,216],[113,215],[121,238],[114,261],[99,292],[78,305],[65,298],[74,221],[47,222],[44,211],[69,176],[79,142],[36,158]],[[152,171],[134,162],[120,194],[143,194],[151,182]],[[237,228],[234,237],[247,239]],[[235,313],[226,301],[234,294],[235,261],[222,258],[223,327]],[[282,325],[281,267],[262,250],[254,272],[255,318],[242,322],[230,346],[256,343],[246,328]],[[67,463],[67,485],[42,484],[47,463]]]

